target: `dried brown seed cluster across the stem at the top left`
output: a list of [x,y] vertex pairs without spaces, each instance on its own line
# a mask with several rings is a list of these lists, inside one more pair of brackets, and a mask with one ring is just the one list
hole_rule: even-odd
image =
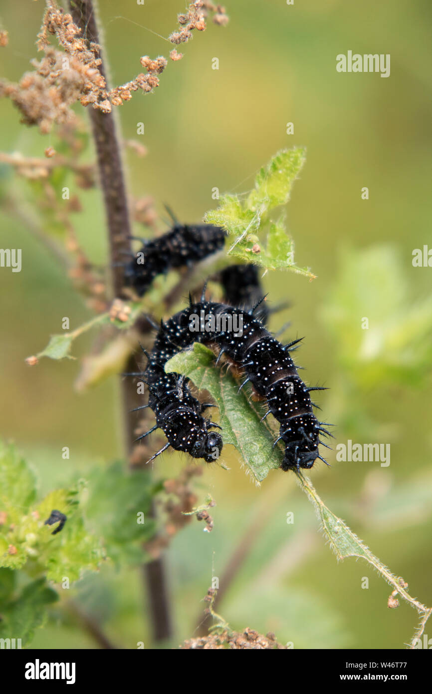
[[[226,24],[227,15],[219,5],[196,0],[185,15],[179,15],[180,31],[169,37],[173,43],[187,42],[193,29],[205,29],[205,12],[215,12],[214,22]],[[132,93],[142,90],[151,92],[159,86],[159,75],[164,71],[167,60],[162,56],[152,59],[142,56],[140,62],[146,72],[112,90],[107,89],[101,72],[101,46],[87,42],[81,35],[72,15],[49,0],[42,28],[37,35],[37,49],[43,51],[41,60],[32,60],[35,68],[26,72],[18,83],[0,81],[0,96],[8,97],[22,115],[22,122],[37,125],[41,133],[49,133],[53,123],[64,124],[76,119],[71,105],[80,101],[83,106],[92,105],[103,113],[110,113],[112,106],[132,99]],[[58,40],[59,50],[50,44],[50,36]],[[0,46],[8,42],[8,33],[0,31]],[[175,49],[171,60],[180,60],[182,53]]]

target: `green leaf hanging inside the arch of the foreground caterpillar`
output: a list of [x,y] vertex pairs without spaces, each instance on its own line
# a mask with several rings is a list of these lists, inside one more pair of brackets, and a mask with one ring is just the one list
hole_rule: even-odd
[[273,448],[275,434],[260,423],[263,408],[248,403],[248,396],[230,373],[214,366],[214,354],[200,343],[193,350],[176,354],[165,364],[165,371],[175,371],[190,378],[197,388],[205,388],[216,400],[223,428],[223,441],[241,453],[248,471],[262,482],[282,460],[279,448]]

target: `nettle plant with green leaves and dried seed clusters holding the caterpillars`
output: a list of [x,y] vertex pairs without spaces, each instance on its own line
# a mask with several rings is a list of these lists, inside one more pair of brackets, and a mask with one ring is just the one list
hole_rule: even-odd
[[[64,12],[53,1],[47,3],[37,43],[42,59],[33,61],[33,71],[24,74],[19,83],[0,82],[2,95],[17,107],[22,122],[37,126],[41,133],[51,133],[53,144],[46,148],[44,157],[0,153],[0,162],[12,167],[19,179],[24,180],[25,194],[33,203],[31,212],[24,211],[17,187],[10,185],[3,193],[6,210],[24,219],[28,228],[55,253],[95,314],[74,330],[52,335],[47,346],[28,357],[27,363],[35,366],[43,357],[71,358],[74,341],[85,332],[97,329],[98,353],[85,360],[78,377],[78,387],[84,390],[110,375],[134,372],[137,355],[141,355],[140,344],[144,342],[151,349],[154,329],[159,327],[160,319],[173,314],[179,296],[187,291],[195,295],[207,278],[230,264],[253,263],[262,275],[267,271],[293,271],[309,280],[315,276],[310,269],[295,264],[293,239],[286,231],[283,211],[293,182],[304,165],[305,151],[297,148],[277,153],[259,171],[250,192],[227,194],[219,201],[218,208],[207,212],[205,223],[223,230],[222,237],[212,240],[214,247],[207,247],[208,252],[201,248],[201,255],[189,254],[183,267],[180,261],[177,265],[173,263],[169,275],[162,277],[159,273],[169,268],[155,264],[149,269],[149,246],[140,246],[138,253],[144,255],[144,268],[152,281],[135,291],[136,282],[134,286],[126,278],[126,270],[130,271],[131,263],[135,263],[131,258],[137,258],[132,250],[132,223],[144,224],[153,232],[150,242],[155,253],[153,260],[155,257],[160,260],[164,253],[162,242],[155,236],[157,215],[153,201],[150,197],[134,201],[127,194],[121,139],[119,128],[114,127],[112,110],[138,90],[155,89],[169,61],[161,56],[155,59],[144,56],[140,62],[145,73],[124,85],[109,88],[92,2],[71,1],[69,9],[70,13]],[[209,15],[218,25],[227,23],[227,15],[220,5],[207,0],[191,3],[187,12],[178,15],[179,28],[169,37],[173,46],[189,41],[193,31],[204,30]],[[0,43],[2,46],[8,43],[5,31]],[[182,54],[174,47],[169,58],[176,63]],[[71,108],[76,103],[87,110],[91,127]],[[86,158],[92,143],[95,163]],[[137,142],[124,145],[134,149],[137,155],[146,153]],[[78,192],[85,194],[86,189],[96,185],[96,180],[101,185],[105,204],[109,280],[89,261],[74,228],[74,214],[80,211]],[[18,190],[22,195],[22,187]],[[197,233],[206,228],[211,227],[198,226]],[[189,231],[184,229],[175,223],[174,231],[180,234],[176,238],[181,237],[182,243],[187,243]],[[200,244],[202,238],[204,244],[209,243],[208,236],[197,238],[193,237],[194,243]],[[220,291],[216,283],[212,287]],[[196,341],[187,350],[177,350],[171,359],[165,359],[164,373],[166,382],[172,373],[184,377],[184,380],[180,378],[180,389],[181,383],[191,382],[197,389],[210,393],[218,407],[223,443],[236,449],[246,473],[257,484],[266,480],[270,471],[282,467],[284,441],[277,441],[275,423],[271,418],[264,418],[265,409],[261,403],[251,400],[248,387],[239,388],[238,373],[216,364],[214,351],[208,346]],[[199,503],[193,491],[193,479],[202,473],[199,466],[187,465],[173,480],[153,481],[150,466],[146,468],[145,464],[157,449],[152,448],[147,437],[145,443],[134,443],[148,428],[149,421],[139,412],[146,384],[141,373],[137,376],[138,384],[132,378],[121,380],[121,407],[139,413],[137,418],[131,415],[127,420],[128,467],[123,462],[114,462],[106,468],[94,468],[85,479],[77,476],[66,489],[55,489],[40,499],[31,466],[20,457],[15,446],[5,445],[1,449],[1,638],[21,638],[23,645],[29,643],[35,629],[44,624],[51,603],[60,600],[60,607],[74,609],[73,603],[64,598],[62,589],[68,589],[85,572],[96,571],[107,561],[117,565],[147,562],[150,603],[159,605],[152,615],[154,636],[161,640],[171,635],[162,551],[173,534],[193,516],[205,521],[206,529],[211,531],[213,519],[209,509],[214,506],[214,500],[207,496]],[[223,459],[215,464],[224,466]],[[404,580],[383,566],[330,511],[299,466],[294,465],[289,474],[295,475],[316,509],[325,538],[338,559],[365,559],[392,586],[389,607],[397,607],[397,595],[400,595],[418,611],[421,622],[411,641],[414,648],[431,610],[412,598]],[[155,502],[160,509],[158,514],[155,514]],[[62,525],[61,530],[57,523]],[[187,641],[182,648],[284,648],[272,634],[261,636],[252,629],[238,634],[230,629],[214,611],[217,595],[213,589],[206,600],[207,614],[214,619],[211,634]],[[94,625],[91,632],[102,647],[110,647]]]

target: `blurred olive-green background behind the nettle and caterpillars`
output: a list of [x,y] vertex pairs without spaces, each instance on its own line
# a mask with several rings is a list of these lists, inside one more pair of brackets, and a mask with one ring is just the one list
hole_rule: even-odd
[[[141,55],[167,56],[171,46],[155,33],[169,35],[184,9],[176,0],[145,0],[144,6],[101,0],[99,7],[112,84],[135,76]],[[180,219],[198,221],[215,205],[212,188],[248,190],[278,149],[306,145],[288,224],[297,264],[310,266],[318,279],[267,275],[269,299],[292,302],[271,326],[277,330],[289,320],[287,336],[306,336],[298,359],[308,382],[331,387],[318,402],[325,421],[336,424],[336,443],[351,438],[391,444],[388,468],[338,463],[329,452],[332,467],[317,465],[311,477],[327,505],[430,606],[431,353],[424,340],[430,344],[432,270],[414,268],[411,260],[413,248],[432,246],[431,3],[227,0],[226,8],[226,28],[209,22],[184,46],[183,60],[169,64],[154,94],[137,93],[117,110],[123,136],[148,147],[144,159],[127,155],[130,191],[153,196],[161,213],[166,202]],[[42,12],[42,1],[0,2],[10,35],[0,51],[0,74],[11,81],[35,56]],[[390,77],[338,74],[336,55],[348,50],[390,53]],[[211,69],[214,57],[218,70]],[[52,142],[52,136],[21,126],[8,101],[0,103],[0,118],[1,151],[42,156]],[[286,135],[288,121],[294,135]],[[8,185],[10,171],[3,167],[2,176]],[[369,187],[368,201],[361,200],[363,186]],[[83,192],[80,199],[80,239],[103,263],[100,195]],[[89,466],[121,455],[118,389],[112,379],[76,393],[77,362],[46,359],[26,366],[25,357],[60,332],[62,316],[75,328],[91,314],[57,262],[4,212],[1,246],[22,248],[23,254],[21,273],[0,270],[1,435],[17,442],[48,491],[77,470],[85,475]],[[410,319],[419,315],[413,326]],[[364,350],[363,316],[377,331],[372,356]],[[90,345],[86,336],[75,353],[85,354]],[[66,461],[63,446],[71,450]],[[200,497],[209,491],[217,503],[213,532],[203,533],[194,521],[167,553],[176,629],[171,645],[193,635],[212,567],[221,577],[252,527],[252,550],[218,608],[232,627],[271,630],[295,648],[403,648],[416,625],[415,611],[403,601],[389,610],[390,589],[367,564],[336,563],[293,475],[273,471],[259,489],[236,455],[225,460],[230,471],[207,467],[199,482]],[[182,464],[178,455],[164,455],[155,475],[175,476]],[[295,514],[293,525],[286,523],[288,511]],[[367,590],[362,577],[369,578]],[[114,643],[151,645],[139,569],[104,568],[74,590]],[[33,645],[95,648],[55,610]]]

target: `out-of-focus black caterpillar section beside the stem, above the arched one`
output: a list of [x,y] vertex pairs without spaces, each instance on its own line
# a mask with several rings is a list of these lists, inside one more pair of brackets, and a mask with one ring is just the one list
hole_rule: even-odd
[[149,239],[125,266],[124,281],[143,296],[157,275],[194,264],[216,253],[225,231],[212,224],[178,224],[166,234]]

